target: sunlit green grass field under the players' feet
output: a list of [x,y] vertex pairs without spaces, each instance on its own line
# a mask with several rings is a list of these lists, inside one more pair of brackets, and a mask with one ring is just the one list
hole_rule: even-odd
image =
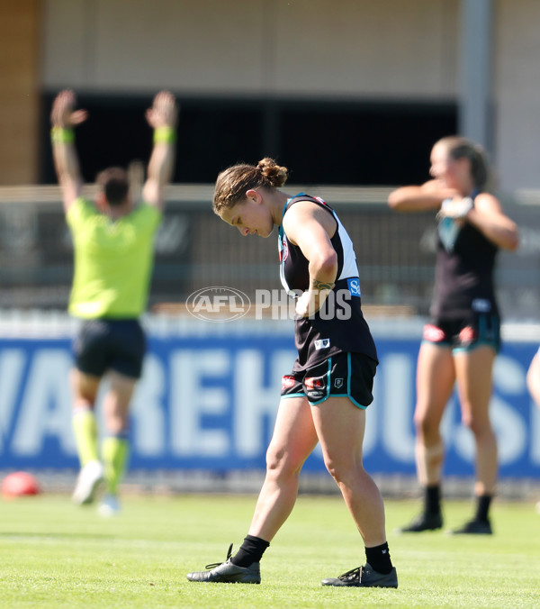
[[[225,559],[247,533],[255,496],[126,496],[100,518],[65,495],[0,502],[2,607],[539,607],[540,514],[532,503],[496,502],[492,537],[417,536],[393,530],[416,515],[413,501],[387,501],[400,587],[320,586],[364,562],[338,496],[301,496],[261,564],[260,586],[195,584],[185,574]],[[446,502],[446,525],[468,502]]]

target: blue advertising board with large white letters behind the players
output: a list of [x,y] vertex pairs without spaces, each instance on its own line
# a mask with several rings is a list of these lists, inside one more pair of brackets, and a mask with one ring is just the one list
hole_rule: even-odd
[[[149,333],[133,399],[131,469],[265,468],[292,332]],[[418,338],[375,335],[380,357],[367,410],[365,467],[413,475]],[[500,477],[540,478],[540,409],[526,374],[537,344],[506,341],[494,368],[491,414]],[[0,468],[76,468],[69,337],[0,339]],[[455,396],[443,420],[446,474],[473,473],[472,433]],[[316,449],[304,469],[323,471]]]

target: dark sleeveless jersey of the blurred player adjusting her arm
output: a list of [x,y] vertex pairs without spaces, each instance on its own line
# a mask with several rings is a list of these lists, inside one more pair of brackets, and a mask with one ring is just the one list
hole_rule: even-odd
[[[477,195],[471,195],[473,200]],[[499,315],[493,284],[497,251],[497,246],[470,223],[452,218],[438,223],[432,318],[444,321],[473,313]]]

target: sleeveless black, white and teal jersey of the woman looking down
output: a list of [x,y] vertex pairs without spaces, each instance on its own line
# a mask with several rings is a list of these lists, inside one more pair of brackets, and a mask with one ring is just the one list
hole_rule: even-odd
[[[336,285],[320,311],[312,319],[299,318],[294,321],[294,340],[298,359],[294,371],[311,368],[337,353],[364,353],[377,361],[377,350],[364,315],[360,279],[353,243],[336,212],[319,197],[293,196],[285,207],[284,214],[299,201],[311,201],[332,214],[337,229],[330,240],[338,254]],[[310,285],[309,260],[297,245],[288,241],[282,225],[279,229],[280,275],[284,289],[289,295],[303,292]]]

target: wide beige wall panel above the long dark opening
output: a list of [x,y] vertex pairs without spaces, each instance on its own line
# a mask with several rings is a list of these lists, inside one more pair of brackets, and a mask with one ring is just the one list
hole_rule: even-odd
[[456,93],[455,0],[49,0],[45,7],[47,88]]

